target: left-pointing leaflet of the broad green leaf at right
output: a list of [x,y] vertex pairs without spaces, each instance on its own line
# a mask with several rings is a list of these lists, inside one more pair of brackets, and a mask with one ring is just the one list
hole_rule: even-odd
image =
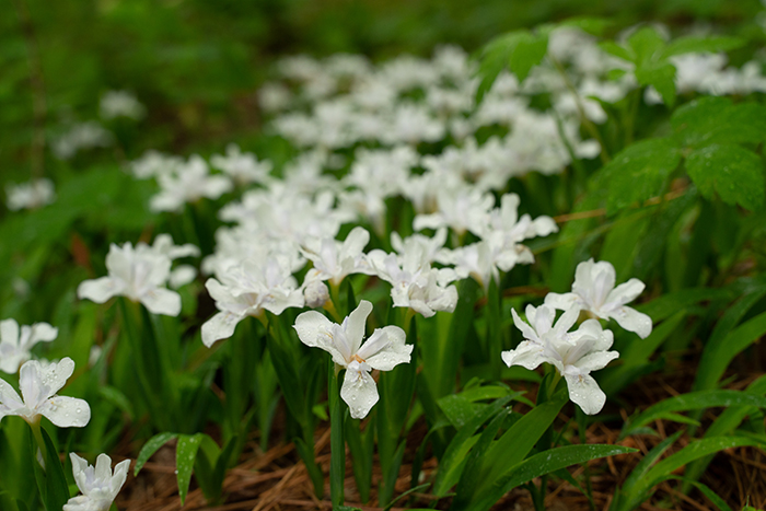
[[591,187],[606,187],[606,211],[613,214],[634,202],[660,195],[681,162],[673,140],[659,138],[634,143],[591,178]]

